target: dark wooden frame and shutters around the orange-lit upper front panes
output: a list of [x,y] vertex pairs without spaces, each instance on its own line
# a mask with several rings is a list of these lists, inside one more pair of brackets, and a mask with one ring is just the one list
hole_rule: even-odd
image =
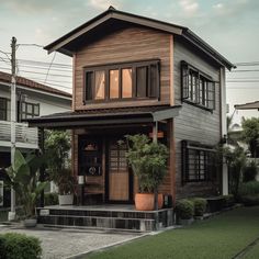
[[[136,70],[138,67],[147,67],[147,89],[146,97],[137,97],[137,76]],[[151,74],[151,69],[156,68],[155,76]],[[132,97],[123,98],[123,85],[122,85],[122,70],[132,69]],[[87,75],[93,74],[92,86],[94,86],[94,72],[99,70],[105,71],[105,87],[104,87],[104,99],[95,100],[94,93],[92,92],[91,99],[88,99],[87,93],[89,89],[87,88]],[[110,70],[119,70],[119,98],[110,99]],[[151,80],[155,77],[155,82]],[[92,87],[93,89],[93,87]],[[100,102],[117,102],[117,101],[131,101],[131,100],[149,100],[149,99],[160,99],[160,59],[148,59],[148,60],[136,60],[132,63],[117,63],[100,66],[89,66],[83,67],[83,94],[82,103],[100,103]]]

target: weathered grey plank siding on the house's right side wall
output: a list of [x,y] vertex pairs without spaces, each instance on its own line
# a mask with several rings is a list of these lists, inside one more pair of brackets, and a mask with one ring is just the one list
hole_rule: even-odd
[[174,102],[182,104],[179,116],[174,119],[176,137],[176,192],[177,199],[191,195],[215,193],[217,185],[212,182],[192,182],[182,185],[181,178],[181,140],[200,142],[204,145],[216,145],[221,139],[219,85],[215,86],[215,110],[213,112],[181,101],[181,60],[185,60],[215,81],[219,81],[219,67],[201,57],[189,45],[174,37],[173,42],[173,86]]

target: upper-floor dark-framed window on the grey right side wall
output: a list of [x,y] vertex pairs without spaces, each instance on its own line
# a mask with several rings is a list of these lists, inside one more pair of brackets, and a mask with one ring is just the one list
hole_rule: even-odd
[[181,63],[182,100],[189,103],[215,110],[215,81],[193,66]]

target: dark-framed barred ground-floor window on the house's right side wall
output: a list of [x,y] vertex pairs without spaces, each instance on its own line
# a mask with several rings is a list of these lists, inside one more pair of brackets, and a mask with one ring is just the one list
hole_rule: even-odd
[[216,178],[215,149],[189,140],[181,142],[182,184],[206,182]]

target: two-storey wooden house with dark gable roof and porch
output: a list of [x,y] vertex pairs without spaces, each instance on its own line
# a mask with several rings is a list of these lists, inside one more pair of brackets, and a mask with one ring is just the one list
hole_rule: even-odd
[[110,8],[45,49],[74,59],[72,112],[29,123],[74,130],[74,172],[87,176],[88,193],[133,203],[137,182],[117,140],[157,132],[170,148],[160,192],[179,199],[227,187],[213,146],[226,134],[225,68],[234,65],[192,31]]

